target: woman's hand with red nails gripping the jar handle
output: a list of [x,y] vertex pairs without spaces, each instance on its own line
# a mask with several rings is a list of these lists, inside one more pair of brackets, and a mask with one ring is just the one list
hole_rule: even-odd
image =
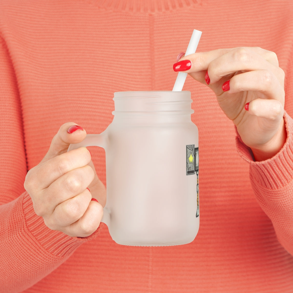
[[[60,127],[44,159],[28,171],[24,188],[32,198],[35,213],[47,227],[69,236],[86,237],[100,225],[106,189],[86,147],[67,152],[69,144],[86,137],[86,131],[75,125],[67,122]],[[100,203],[92,200],[91,193]]]

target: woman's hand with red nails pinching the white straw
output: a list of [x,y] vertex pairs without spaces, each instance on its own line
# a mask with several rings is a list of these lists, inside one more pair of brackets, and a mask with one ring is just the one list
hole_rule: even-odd
[[190,54],[178,61],[175,71],[187,72],[214,91],[256,161],[280,151],[287,138],[285,74],[274,52],[239,47]]

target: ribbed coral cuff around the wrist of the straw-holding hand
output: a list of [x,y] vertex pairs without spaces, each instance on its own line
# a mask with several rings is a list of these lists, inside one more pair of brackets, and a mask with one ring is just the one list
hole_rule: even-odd
[[255,162],[251,149],[243,143],[236,129],[236,147],[240,156],[250,164],[251,179],[268,189],[279,189],[292,180],[293,142],[292,118],[284,112],[287,139],[282,149],[272,158]]

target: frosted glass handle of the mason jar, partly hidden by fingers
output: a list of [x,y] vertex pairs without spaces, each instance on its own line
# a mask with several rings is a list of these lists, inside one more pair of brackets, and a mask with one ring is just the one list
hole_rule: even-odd
[[[70,144],[67,151],[71,151],[72,149],[78,149],[79,147],[90,147],[97,146],[105,149],[106,147],[106,135],[105,131],[101,134],[87,134],[86,138],[77,144]],[[103,208],[103,217],[101,222],[105,223],[108,227],[110,224],[110,210],[105,206]]]

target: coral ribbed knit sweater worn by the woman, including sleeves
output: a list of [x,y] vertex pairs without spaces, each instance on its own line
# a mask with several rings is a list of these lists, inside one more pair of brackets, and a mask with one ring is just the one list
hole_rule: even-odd
[[[0,292],[292,293],[292,14],[290,0],[0,0]],[[276,52],[282,150],[254,162],[214,93],[188,76],[200,149],[195,240],[135,247],[116,244],[105,224],[86,238],[48,229],[24,190],[27,171],[63,123],[105,130],[115,91],[172,90],[193,29],[198,52]],[[88,149],[106,184],[104,150]]]

